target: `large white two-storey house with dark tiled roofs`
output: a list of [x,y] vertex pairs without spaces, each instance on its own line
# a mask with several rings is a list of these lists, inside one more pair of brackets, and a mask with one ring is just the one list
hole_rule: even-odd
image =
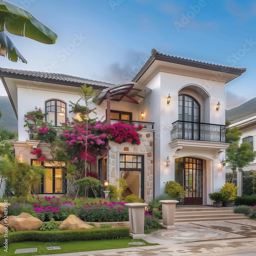
[[[117,85],[3,68],[0,75],[18,119],[17,158],[33,164],[35,159],[29,153],[38,144],[28,138],[24,114],[37,106],[49,112],[50,120],[58,125],[66,116],[72,118],[68,102],[77,101],[76,90],[86,83],[101,90],[93,103],[98,117],[105,115],[108,123],[124,119],[144,127],[140,145],[110,142],[111,150],[92,167],[101,181],[108,179],[114,184],[121,176],[128,182],[126,193],[148,202],[163,193],[165,182],[175,180],[186,191],[180,204],[206,205],[211,204],[208,194],[225,183],[221,164],[229,146],[225,143],[225,84],[245,71],[153,49],[134,79]],[[47,161],[44,164],[47,166]],[[38,192],[65,193],[61,169],[48,167],[53,178],[45,178]]]

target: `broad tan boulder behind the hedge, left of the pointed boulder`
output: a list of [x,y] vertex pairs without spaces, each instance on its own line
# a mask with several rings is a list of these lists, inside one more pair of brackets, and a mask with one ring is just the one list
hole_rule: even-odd
[[15,216],[8,217],[8,228],[15,228],[16,231],[37,230],[42,225],[41,220],[27,214],[26,212],[22,212],[16,218],[13,217]]

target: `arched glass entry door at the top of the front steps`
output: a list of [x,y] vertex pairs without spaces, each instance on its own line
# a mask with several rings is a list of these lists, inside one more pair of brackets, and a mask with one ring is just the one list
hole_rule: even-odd
[[203,161],[184,157],[176,159],[175,181],[185,190],[183,204],[202,204]]

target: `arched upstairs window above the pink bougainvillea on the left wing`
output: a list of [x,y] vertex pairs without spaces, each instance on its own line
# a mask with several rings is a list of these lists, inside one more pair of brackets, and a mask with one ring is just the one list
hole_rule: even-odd
[[60,126],[60,123],[66,122],[67,104],[61,100],[51,99],[46,101],[46,121],[54,126]]

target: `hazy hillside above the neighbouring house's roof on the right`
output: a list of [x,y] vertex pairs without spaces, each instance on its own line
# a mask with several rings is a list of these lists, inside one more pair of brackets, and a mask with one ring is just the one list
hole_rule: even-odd
[[250,99],[236,108],[226,110],[226,120],[232,122],[251,114],[256,115],[256,98]]

